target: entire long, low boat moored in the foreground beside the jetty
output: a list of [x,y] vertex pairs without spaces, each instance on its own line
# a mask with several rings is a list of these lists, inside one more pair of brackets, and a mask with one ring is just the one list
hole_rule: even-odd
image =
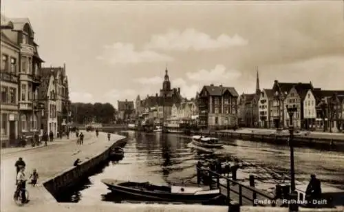
[[149,182],[130,182],[112,179],[101,180],[108,189],[123,195],[135,196],[142,200],[203,203],[217,200],[222,196],[219,189],[202,187],[164,186]]

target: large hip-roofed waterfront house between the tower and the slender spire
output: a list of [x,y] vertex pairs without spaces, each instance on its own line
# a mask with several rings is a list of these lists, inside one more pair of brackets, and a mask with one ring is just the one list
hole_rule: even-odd
[[237,125],[237,100],[234,87],[203,86],[198,98],[199,127],[225,129]]

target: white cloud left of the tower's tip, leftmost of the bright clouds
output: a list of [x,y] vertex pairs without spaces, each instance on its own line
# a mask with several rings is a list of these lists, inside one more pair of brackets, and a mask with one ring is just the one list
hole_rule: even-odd
[[111,64],[173,61],[173,58],[166,54],[160,54],[151,50],[137,51],[132,43],[106,45],[103,54],[97,56],[97,59]]

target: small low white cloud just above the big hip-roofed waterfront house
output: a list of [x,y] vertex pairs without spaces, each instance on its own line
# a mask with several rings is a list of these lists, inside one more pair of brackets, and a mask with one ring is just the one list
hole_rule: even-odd
[[216,65],[212,70],[199,70],[198,72],[187,72],[186,76],[200,83],[224,83],[235,80],[241,76],[237,70],[226,70],[224,65]]

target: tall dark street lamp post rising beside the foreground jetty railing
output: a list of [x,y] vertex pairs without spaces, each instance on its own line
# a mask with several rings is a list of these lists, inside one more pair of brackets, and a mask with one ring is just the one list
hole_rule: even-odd
[[290,199],[292,200],[292,203],[290,206],[290,211],[297,211],[298,205],[295,204],[297,201],[297,193],[295,192],[295,170],[294,170],[294,146],[293,146],[293,138],[294,138],[294,125],[292,118],[294,116],[294,113],[297,112],[297,107],[295,105],[292,105],[292,107],[289,107],[289,105],[286,105],[286,109],[289,115],[289,146],[290,146]]

